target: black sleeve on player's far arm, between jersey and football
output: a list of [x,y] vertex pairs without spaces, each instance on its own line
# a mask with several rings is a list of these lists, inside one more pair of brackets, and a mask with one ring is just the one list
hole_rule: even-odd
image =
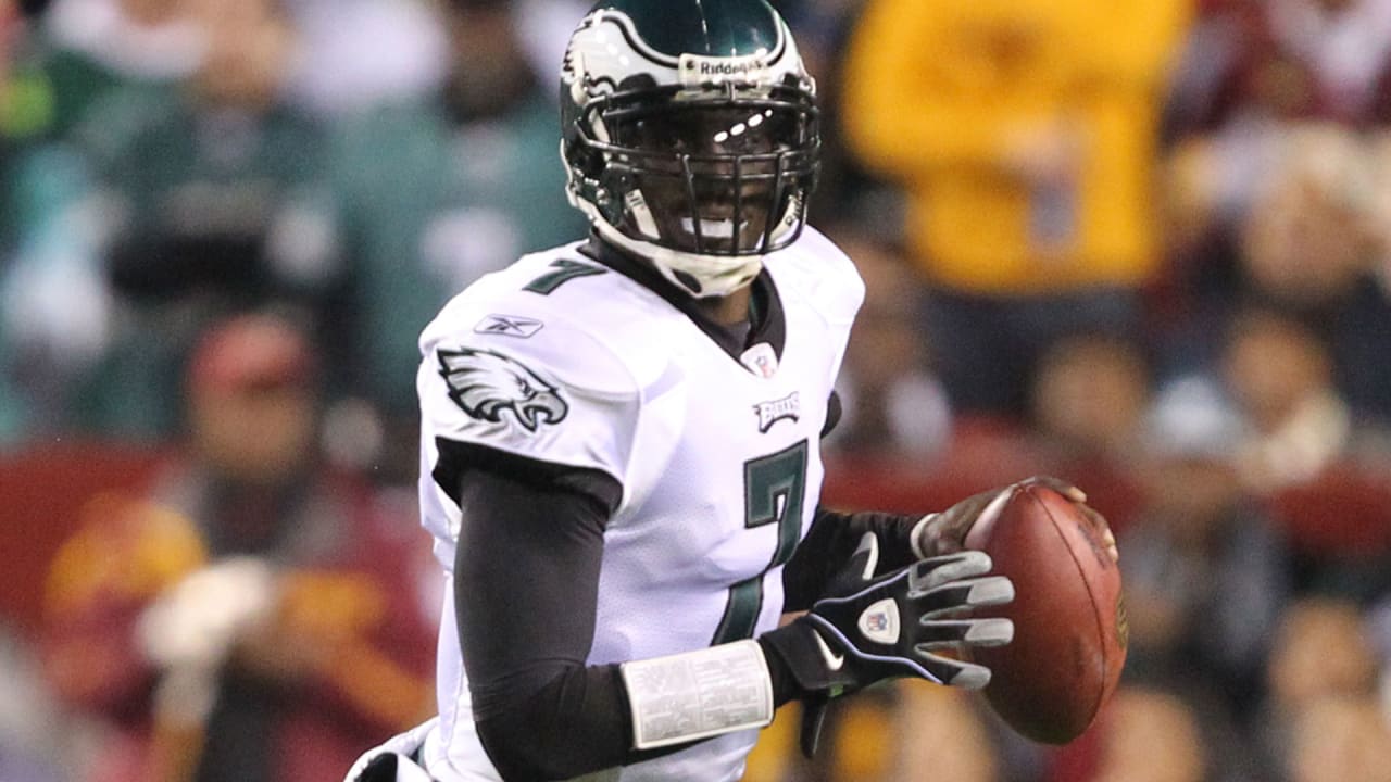
[[805,611],[821,597],[835,575],[854,554],[864,533],[879,537],[879,572],[911,565],[912,527],[922,516],[900,513],[840,513],[817,508],[807,537],[797,544],[783,568],[783,611]]

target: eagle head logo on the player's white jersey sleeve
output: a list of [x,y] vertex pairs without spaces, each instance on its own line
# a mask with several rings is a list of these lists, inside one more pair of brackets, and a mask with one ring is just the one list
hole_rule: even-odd
[[561,423],[569,405],[561,392],[516,360],[492,351],[438,351],[440,374],[449,385],[449,398],[479,420],[499,423],[512,416],[527,431]]

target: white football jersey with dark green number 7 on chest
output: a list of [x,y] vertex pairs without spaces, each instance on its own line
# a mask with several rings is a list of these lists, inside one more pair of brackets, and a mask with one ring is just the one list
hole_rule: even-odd
[[[437,438],[574,468],[622,486],[604,533],[588,664],[748,639],[782,612],[782,565],[822,483],[826,405],[864,298],[854,264],[805,230],[765,267],[786,320],[782,355],[730,356],[683,312],[588,259],[529,255],[451,301],[424,330],[420,506],[447,570],[460,509],[431,479]],[[452,594],[452,589],[447,590]],[[445,607],[441,779],[497,779],[483,754]],[[734,781],[757,731],[729,733],[595,779]],[[491,774],[491,775],[490,775]]]

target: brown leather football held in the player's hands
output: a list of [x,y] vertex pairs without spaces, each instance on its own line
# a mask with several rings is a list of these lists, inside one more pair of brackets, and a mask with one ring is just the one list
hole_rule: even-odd
[[1077,505],[1028,481],[997,497],[965,543],[1014,582],[1014,603],[976,612],[1014,621],[1011,643],[972,653],[992,672],[986,700],[1022,736],[1071,742],[1125,662],[1120,569]]

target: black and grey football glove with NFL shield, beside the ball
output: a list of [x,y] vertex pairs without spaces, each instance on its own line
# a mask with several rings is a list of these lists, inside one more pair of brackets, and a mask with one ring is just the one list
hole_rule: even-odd
[[865,533],[826,597],[759,637],[803,690],[801,749],[808,757],[830,699],[908,676],[978,690],[990,682],[990,671],[960,660],[963,653],[1014,637],[1008,619],[970,618],[974,608],[1014,600],[1010,579],[985,575],[992,566],[988,554],[960,551],[874,577],[878,559],[878,538]]

